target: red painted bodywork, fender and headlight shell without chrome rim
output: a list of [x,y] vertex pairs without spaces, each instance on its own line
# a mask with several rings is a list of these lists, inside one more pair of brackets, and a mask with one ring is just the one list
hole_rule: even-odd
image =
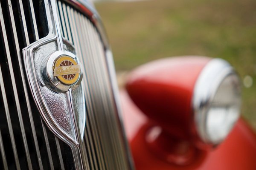
[[[185,57],[173,61],[172,67],[165,68],[164,62],[168,62],[166,60],[134,71],[126,86],[132,97],[126,90],[120,91],[125,131],[136,169],[255,170],[256,135],[242,118],[238,120],[224,142],[216,147],[195,147],[196,140],[189,140],[189,137],[186,137],[189,136],[186,130],[190,128],[189,116],[183,113],[188,113],[186,110],[190,109],[189,102],[192,98],[195,77],[197,77],[192,75],[199,74],[208,60],[207,58]],[[184,67],[180,67],[180,63],[183,63],[183,66],[186,65],[187,69],[181,69]],[[191,71],[189,67],[195,63],[197,63],[197,69]],[[154,70],[154,67],[158,67],[157,65],[161,65],[160,69]],[[143,75],[144,73],[147,73],[146,76]],[[180,77],[181,74],[187,75],[187,77]],[[174,78],[169,79],[168,77]],[[171,83],[173,86],[166,86],[166,82],[170,83],[177,79],[186,79],[186,81],[175,81]],[[187,83],[188,81],[190,83]],[[144,93],[143,89],[150,89],[152,93]],[[162,89],[161,93],[157,92],[159,89]],[[184,93],[184,89],[186,89],[186,93]],[[140,90],[140,95],[137,95],[137,90]],[[182,97],[177,99],[168,96],[168,91]],[[151,105],[158,107],[154,108],[154,106],[145,104],[145,108],[140,107],[143,108],[143,113],[132,100],[140,106],[152,101]],[[168,103],[172,103],[172,105]],[[147,106],[148,108],[146,108]],[[163,111],[157,110],[159,108],[162,108]],[[168,114],[169,112],[172,114]],[[153,115],[154,113],[155,115]],[[172,135],[165,134],[161,127],[167,129],[168,133]]]

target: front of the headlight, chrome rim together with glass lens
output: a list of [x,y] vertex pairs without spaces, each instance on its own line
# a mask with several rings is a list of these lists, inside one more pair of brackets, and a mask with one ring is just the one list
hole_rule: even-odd
[[241,86],[233,68],[222,59],[213,59],[203,69],[194,91],[195,124],[205,143],[217,145],[239,118]]

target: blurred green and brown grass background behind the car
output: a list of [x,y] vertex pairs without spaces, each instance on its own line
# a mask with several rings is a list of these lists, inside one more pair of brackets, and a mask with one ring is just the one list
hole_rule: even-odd
[[[256,0],[149,0],[96,3],[117,71],[170,56],[229,61],[256,82]],[[256,129],[256,84],[243,89],[243,116]]]

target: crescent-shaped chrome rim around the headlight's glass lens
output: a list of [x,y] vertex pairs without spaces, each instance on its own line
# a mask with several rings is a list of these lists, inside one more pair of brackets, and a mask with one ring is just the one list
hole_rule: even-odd
[[[195,84],[192,107],[198,136],[207,144],[216,143],[207,134],[207,112],[221,83],[230,75],[236,75],[232,66],[223,59],[212,59],[203,68]],[[230,87],[232,88],[232,87]]]

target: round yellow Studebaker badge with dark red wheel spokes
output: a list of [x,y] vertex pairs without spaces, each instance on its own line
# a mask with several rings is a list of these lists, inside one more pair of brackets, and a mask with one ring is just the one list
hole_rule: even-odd
[[55,59],[53,73],[54,77],[57,77],[63,84],[73,85],[79,80],[81,70],[75,59],[61,56]]

